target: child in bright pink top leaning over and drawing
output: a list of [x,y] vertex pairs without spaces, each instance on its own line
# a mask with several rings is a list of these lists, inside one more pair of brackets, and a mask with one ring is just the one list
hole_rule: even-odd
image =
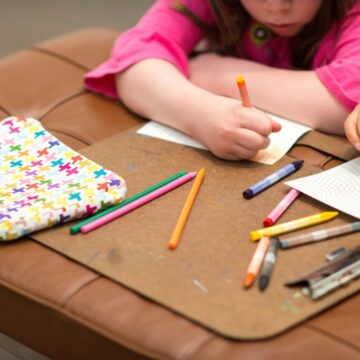
[[[344,133],[360,102],[356,0],[158,0],[86,86],[190,134],[215,155],[252,158],[280,125],[254,107]],[[207,52],[189,54],[207,39]],[[204,43],[204,42],[203,42]]]

